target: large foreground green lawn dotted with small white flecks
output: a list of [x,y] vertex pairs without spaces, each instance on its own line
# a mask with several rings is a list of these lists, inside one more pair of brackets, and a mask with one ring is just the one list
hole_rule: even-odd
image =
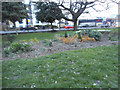
[[117,45],[3,61],[2,64],[3,87],[118,87]]

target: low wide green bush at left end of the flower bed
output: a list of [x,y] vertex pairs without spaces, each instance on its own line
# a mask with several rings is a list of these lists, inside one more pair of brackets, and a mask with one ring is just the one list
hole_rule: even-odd
[[8,56],[10,53],[31,51],[31,45],[25,43],[12,43],[8,48],[4,49],[3,55]]

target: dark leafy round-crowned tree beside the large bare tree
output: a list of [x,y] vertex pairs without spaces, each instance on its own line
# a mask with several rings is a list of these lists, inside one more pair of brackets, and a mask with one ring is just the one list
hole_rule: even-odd
[[38,2],[37,4],[39,10],[36,13],[37,20],[51,23],[51,28],[53,29],[52,23],[55,20],[60,20],[64,16],[61,9],[55,2]]

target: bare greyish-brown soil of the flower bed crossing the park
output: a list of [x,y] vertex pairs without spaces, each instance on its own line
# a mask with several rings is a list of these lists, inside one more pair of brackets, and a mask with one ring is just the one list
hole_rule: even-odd
[[107,35],[104,35],[101,41],[96,42],[78,42],[77,39],[73,44],[64,44],[60,41],[52,42],[52,46],[45,46],[42,41],[39,41],[39,44],[33,45],[33,51],[22,53],[22,54],[15,54],[9,57],[3,57],[3,60],[15,60],[15,59],[25,59],[25,58],[36,58],[40,56],[50,55],[53,53],[64,52],[69,50],[80,50],[82,48],[93,48],[97,46],[110,46],[110,45],[117,45],[118,41],[110,41]]

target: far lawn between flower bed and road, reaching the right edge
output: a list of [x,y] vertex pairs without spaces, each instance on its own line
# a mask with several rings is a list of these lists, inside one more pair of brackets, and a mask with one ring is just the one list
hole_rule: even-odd
[[[119,30],[118,28],[101,28],[101,29],[91,29],[91,30]],[[73,33],[76,31],[67,31],[68,33]],[[59,32],[40,32],[40,33],[27,33],[27,34],[19,34],[15,42],[18,42],[19,40],[30,40],[33,38],[37,38],[39,40],[43,39],[53,39],[56,34],[64,34],[65,31],[59,31]],[[6,42],[6,35],[2,36],[2,42]],[[0,40],[1,42],[1,40]]]

